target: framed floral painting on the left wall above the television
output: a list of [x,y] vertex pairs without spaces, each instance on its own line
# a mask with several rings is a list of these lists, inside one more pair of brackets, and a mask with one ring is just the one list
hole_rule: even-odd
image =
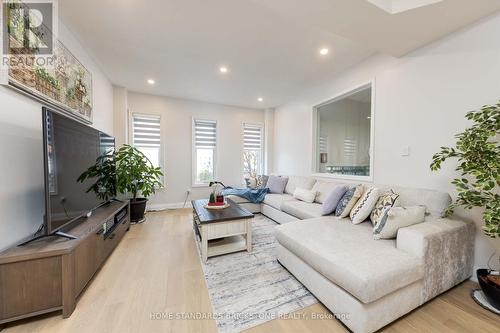
[[38,30],[32,27],[30,20],[36,17],[31,7],[19,3],[2,7],[6,21],[3,54],[9,61],[1,83],[92,123],[92,74],[45,26],[53,27],[50,23],[44,21]]

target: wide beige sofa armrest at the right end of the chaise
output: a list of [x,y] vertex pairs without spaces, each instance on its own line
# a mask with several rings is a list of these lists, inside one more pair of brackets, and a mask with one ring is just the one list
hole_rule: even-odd
[[422,259],[422,304],[472,275],[474,237],[474,224],[445,218],[399,229],[397,248]]

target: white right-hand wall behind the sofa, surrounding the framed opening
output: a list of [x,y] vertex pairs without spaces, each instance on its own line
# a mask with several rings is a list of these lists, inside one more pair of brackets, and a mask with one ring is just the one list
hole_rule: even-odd
[[[454,193],[456,164],[439,173],[429,164],[469,125],[467,111],[500,99],[499,35],[496,15],[402,58],[374,56],[277,108],[275,171],[310,174],[313,106],[375,78],[374,182]],[[466,216],[478,225],[475,265],[484,266],[494,246],[479,230],[480,212]]]

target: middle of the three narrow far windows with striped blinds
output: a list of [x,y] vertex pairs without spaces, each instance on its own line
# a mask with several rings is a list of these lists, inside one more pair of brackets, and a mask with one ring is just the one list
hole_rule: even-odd
[[214,180],[217,152],[217,122],[193,120],[193,185]]

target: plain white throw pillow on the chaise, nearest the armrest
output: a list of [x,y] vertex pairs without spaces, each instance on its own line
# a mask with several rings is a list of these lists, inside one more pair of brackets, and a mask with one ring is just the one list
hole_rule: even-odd
[[400,228],[422,223],[425,220],[425,207],[392,207],[373,227],[373,238],[396,238]]

